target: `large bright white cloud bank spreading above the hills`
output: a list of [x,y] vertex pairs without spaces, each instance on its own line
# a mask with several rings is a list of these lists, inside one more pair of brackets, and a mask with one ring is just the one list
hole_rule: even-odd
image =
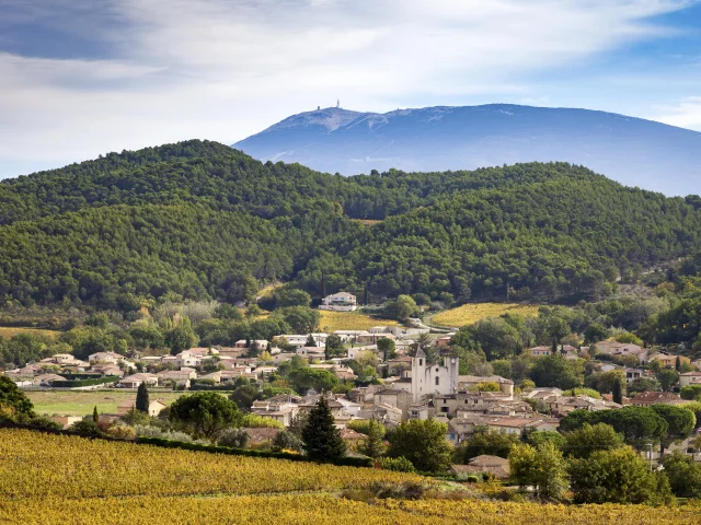
[[61,163],[187,138],[233,142],[336,96],[361,110],[547,100],[529,75],[665,36],[671,30],[650,19],[689,3],[108,2],[122,21],[104,34],[117,58],[0,55],[0,159]]

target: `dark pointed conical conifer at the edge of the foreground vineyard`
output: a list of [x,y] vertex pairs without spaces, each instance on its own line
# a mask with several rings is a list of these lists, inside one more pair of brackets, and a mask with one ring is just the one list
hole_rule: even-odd
[[341,432],[336,429],[323,396],[309,412],[309,420],[302,430],[302,443],[307,456],[314,462],[330,462],[346,453],[346,444],[341,439]]

